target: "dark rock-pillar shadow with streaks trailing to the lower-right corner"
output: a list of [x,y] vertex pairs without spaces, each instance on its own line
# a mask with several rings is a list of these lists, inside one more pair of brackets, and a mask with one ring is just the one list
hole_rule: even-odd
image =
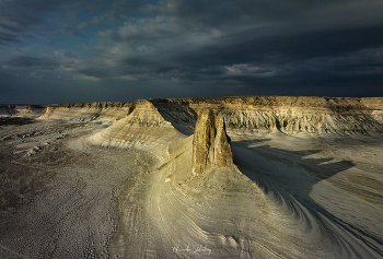
[[347,160],[332,162],[333,157],[305,158],[305,156],[320,153],[321,150],[290,151],[266,144],[259,145],[268,140],[270,139],[233,143],[234,163],[241,173],[259,186],[266,195],[271,193],[277,197],[276,199],[283,199],[292,203],[295,202],[291,199],[293,197],[323,225],[327,224],[324,220],[326,217],[383,256],[383,251],[374,245],[383,245],[378,237],[337,217],[310,197],[314,185],[346,172],[356,164]]

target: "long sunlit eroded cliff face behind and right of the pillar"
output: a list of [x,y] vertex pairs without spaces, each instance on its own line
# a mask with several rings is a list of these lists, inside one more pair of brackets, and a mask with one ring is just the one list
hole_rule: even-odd
[[183,101],[195,110],[211,107],[222,114],[230,131],[383,132],[383,98],[244,96]]

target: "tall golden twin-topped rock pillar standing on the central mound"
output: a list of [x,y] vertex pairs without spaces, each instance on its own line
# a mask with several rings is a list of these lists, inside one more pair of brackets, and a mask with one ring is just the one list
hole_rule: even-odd
[[198,176],[211,168],[234,167],[223,117],[211,109],[199,113],[193,139],[192,172]]

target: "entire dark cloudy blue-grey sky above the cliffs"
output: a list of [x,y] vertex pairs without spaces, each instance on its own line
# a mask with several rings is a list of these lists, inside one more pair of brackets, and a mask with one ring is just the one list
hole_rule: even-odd
[[0,0],[0,104],[383,96],[382,0]]

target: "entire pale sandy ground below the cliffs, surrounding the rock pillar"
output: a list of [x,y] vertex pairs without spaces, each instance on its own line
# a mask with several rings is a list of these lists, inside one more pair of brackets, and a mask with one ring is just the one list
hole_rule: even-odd
[[2,120],[0,258],[383,258],[381,136],[230,131],[190,177],[193,137],[121,121]]

